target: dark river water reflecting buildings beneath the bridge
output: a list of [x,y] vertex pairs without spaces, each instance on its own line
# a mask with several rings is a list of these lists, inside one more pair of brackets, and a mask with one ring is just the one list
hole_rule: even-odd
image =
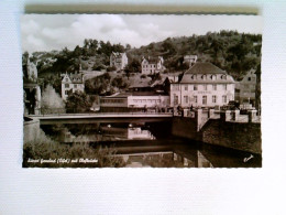
[[127,168],[260,168],[260,154],[172,136],[169,121],[55,121],[41,129],[59,144],[112,147]]

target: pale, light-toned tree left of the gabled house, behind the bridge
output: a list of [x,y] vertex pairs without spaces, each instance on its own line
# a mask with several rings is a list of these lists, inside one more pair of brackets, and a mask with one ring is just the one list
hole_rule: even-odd
[[65,103],[51,85],[47,85],[42,94],[41,107],[42,114],[65,112]]

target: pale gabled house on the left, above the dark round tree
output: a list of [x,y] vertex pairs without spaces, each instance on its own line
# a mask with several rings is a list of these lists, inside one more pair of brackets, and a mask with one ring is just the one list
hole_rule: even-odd
[[62,75],[62,98],[67,99],[69,93],[85,92],[82,73]]

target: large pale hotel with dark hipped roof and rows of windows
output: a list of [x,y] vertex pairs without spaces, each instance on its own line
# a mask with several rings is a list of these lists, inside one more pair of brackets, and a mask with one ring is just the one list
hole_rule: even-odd
[[217,107],[234,99],[234,80],[211,63],[196,63],[170,83],[172,107]]

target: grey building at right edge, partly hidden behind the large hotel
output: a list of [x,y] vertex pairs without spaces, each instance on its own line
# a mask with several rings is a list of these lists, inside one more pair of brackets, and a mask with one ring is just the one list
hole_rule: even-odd
[[256,90],[256,73],[251,69],[246,73],[243,79],[238,85],[238,99],[241,104],[250,103],[255,105],[255,90]]

